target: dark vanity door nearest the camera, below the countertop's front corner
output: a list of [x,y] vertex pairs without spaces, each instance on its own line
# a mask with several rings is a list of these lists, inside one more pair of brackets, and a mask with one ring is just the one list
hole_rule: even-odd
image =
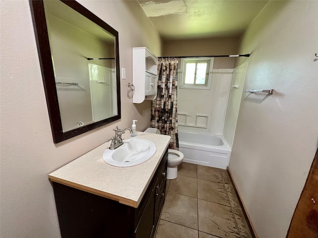
[[155,233],[155,187],[151,191],[151,195],[146,203],[143,215],[135,231],[135,238],[152,238]]

